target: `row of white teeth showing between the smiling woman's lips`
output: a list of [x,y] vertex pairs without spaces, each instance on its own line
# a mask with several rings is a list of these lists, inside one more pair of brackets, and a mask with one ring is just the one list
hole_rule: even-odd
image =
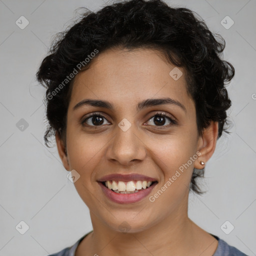
[[109,190],[112,190],[116,193],[121,194],[130,194],[142,191],[147,189],[149,186],[157,183],[157,181],[146,181],[146,180],[131,180],[128,182],[124,181],[115,181],[115,180],[106,180],[100,181],[105,187]]

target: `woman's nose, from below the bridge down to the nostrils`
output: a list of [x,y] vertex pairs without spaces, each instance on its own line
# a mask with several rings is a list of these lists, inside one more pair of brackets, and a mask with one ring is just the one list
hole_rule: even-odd
[[106,159],[121,165],[131,165],[142,161],[146,156],[146,148],[135,125],[132,124],[126,131],[116,125],[114,137],[111,139]]

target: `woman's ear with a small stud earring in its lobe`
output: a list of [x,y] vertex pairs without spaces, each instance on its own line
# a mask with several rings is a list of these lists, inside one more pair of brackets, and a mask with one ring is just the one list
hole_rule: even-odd
[[200,161],[206,163],[214,153],[218,136],[218,122],[211,121],[209,126],[203,130],[203,134],[198,139],[197,151],[201,154],[194,163],[196,169],[204,168]]

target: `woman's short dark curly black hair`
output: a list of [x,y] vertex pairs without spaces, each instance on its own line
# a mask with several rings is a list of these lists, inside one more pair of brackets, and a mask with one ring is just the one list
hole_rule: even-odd
[[[67,80],[67,75],[77,71],[78,63],[83,63],[78,72],[87,69],[93,58],[88,62],[85,59],[95,49],[98,56],[115,47],[156,49],[164,53],[171,64],[184,67],[187,91],[195,103],[198,134],[202,134],[211,120],[218,122],[218,138],[226,131],[226,110],[231,101],[225,82],[234,76],[234,68],[220,58],[224,39],[211,33],[200,16],[190,9],[170,7],[162,0],[127,0],[96,12],[86,10],[75,24],[56,35],[48,55],[42,60],[36,78],[47,88],[44,98],[47,146],[48,139],[56,132],[65,143],[73,81],[69,76]],[[56,91],[57,87],[61,89]],[[204,169],[194,169],[191,176],[190,189],[198,194],[202,191],[196,178],[203,174]]]

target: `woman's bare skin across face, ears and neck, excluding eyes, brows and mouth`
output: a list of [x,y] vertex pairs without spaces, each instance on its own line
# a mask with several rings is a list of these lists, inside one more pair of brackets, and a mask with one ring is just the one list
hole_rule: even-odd
[[[152,49],[108,49],[92,61],[89,69],[74,78],[67,110],[67,154],[64,141],[55,135],[63,166],[80,175],[74,185],[89,208],[93,226],[75,256],[212,255],[217,240],[188,218],[187,205],[193,168],[201,169],[200,160],[206,162],[213,154],[218,127],[211,122],[203,135],[198,135],[185,70],[179,67],[183,74],[174,80],[169,75],[174,65]],[[185,110],[175,104],[136,110],[141,100],[166,96],[179,101]],[[86,98],[107,100],[113,109],[90,105],[72,109]],[[177,124],[165,118],[157,125],[157,111],[165,112]],[[81,124],[93,112],[103,114],[104,122],[89,126],[93,125],[89,118]],[[118,126],[123,118],[131,123],[125,132]],[[197,151],[200,156],[154,202],[149,201]],[[110,201],[96,181],[111,173],[144,174],[158,183],[142,200],[119,204]],[[123,221],[129,225],[126,233],[119,229]]]

